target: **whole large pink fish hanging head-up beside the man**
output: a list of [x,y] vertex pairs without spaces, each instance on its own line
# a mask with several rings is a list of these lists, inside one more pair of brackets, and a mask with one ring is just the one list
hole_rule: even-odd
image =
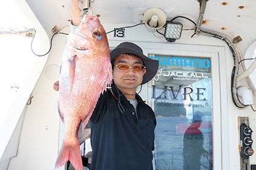
[[55,168],[69,160],[76,170],[82,170],[79,126],[88,123],[99,96],[111,83],[105,30],[97,16],[84,16],[76,31],[69,34],[63,53],[58,107],[65,135]]

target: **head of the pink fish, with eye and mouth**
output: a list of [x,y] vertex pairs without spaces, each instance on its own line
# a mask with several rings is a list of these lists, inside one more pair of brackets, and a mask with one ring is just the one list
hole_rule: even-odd
[[84,41],[78,41],[76,43],[79,49],[99,50],[108,48],[107,35],[96,15],[85,15],[76,34],[84,39]]

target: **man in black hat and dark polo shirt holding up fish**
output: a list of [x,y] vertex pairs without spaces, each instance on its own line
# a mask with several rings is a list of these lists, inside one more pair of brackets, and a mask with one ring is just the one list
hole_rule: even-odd
[[[72,23],[79,24],[80,9],[73,0]],[[151,170],[155,114],[136,93],[137,87],[157,73],[158,61],[132,42],[110,53],[112,88],[99,97],[90,118],[92,170]],[[58,82],[54,84],[58,90]]]

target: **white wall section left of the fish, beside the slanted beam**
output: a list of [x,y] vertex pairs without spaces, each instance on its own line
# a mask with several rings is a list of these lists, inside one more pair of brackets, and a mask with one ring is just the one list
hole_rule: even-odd
[[9,169],[54,169],[59,144],[59,113],[57,92],[52,88],[59,75],[59,63],[65,45],[64,35],[54,39],[46,66],[32,92],[32,103],[21,132],[17,157],[10,161]]

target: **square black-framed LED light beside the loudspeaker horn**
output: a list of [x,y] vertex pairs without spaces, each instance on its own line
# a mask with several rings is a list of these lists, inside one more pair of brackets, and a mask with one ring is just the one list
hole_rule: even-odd
[[166,21],[165,24],[165,39],[168,42],[174,42],[180,39],[183,25],[180,22]]

